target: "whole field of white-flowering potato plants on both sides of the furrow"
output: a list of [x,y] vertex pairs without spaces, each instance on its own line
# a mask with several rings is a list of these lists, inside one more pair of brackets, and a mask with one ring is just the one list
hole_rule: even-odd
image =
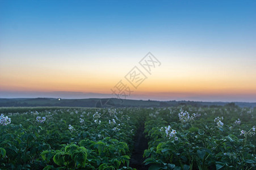
[[256,168],[253,108],[7,111],[0,117],[0,169],[133,169],[130,158],[142,126],[149,169]]

